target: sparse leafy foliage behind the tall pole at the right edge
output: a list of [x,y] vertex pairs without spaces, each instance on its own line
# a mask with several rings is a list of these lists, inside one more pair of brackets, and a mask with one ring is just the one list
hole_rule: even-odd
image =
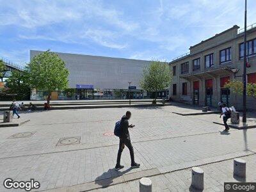
[[[225,84],[225,87],[230,88],[230,90],[232,90],[234,93],[243,95],[243,82],[241,81],[230,81],[229,83]],[[246,95],[252,96],[254,99],[256,99],[256,83],[246,84]]]

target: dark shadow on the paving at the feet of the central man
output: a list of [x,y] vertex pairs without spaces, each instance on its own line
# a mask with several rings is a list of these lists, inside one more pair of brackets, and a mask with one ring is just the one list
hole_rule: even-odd
[[102,188],[108,188],[108,186],[113,183],[113,180],[124,175],[127,172],[130,172],[132,168],[128,168],[127,170],[124,170],[123,172],[116,171],[115,168],[111,168],[108,170],[108,172],[102,173],[102,175],[99,175],[95,179],[95,184],[99,184],[102,186]]

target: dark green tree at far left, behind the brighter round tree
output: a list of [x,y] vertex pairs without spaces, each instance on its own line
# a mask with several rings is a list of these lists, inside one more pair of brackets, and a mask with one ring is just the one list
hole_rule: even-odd
[[27,72],[13,70],[12,75],[6,80],[7,93],[17,94],[19,99],[29,99],[30,87]]

